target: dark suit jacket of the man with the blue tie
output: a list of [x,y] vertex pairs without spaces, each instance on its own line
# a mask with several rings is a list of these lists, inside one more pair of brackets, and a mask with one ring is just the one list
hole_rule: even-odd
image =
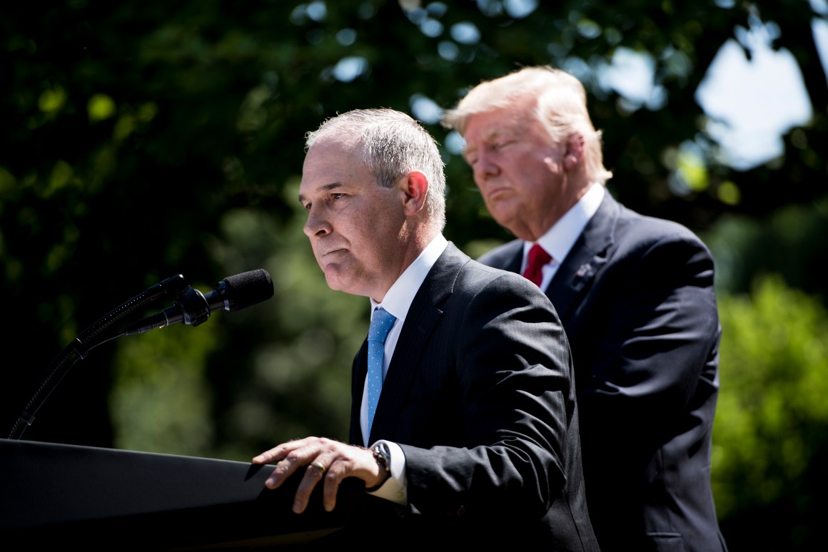
[[[363,343],[354,359],[354,444],[366,352]],[[408,311],[370,436],[402,446],[409,505],[365,495],[354,524],[362,542],[384,535],[443,550],[519,537],[598,550],[573,377],[561,322],[537,286],[449,243]]]

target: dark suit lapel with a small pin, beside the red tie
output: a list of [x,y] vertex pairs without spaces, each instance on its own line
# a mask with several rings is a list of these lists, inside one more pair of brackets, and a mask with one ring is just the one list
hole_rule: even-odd
[[565,324],[572,305],[580,303],[595,274],[606,264],[618,218],[619,204],[608,191],[546,288],[546,296]]

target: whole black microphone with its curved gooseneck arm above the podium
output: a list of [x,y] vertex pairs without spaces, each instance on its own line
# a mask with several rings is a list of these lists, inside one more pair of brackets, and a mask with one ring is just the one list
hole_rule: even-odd
[[[176,298],[175,304],[159,314],[154,314],[129,325],[127,329],[102,335],[104,330],[110,328],[118,320],[123,319],[124,316],[164,295],[174,295]],[[151,329],[162,328],[178,322],[197,326],[205,322],[210,313],[215,310],[240,310],[270,299],[272,295],[272,279],[270,274],[262,269],[229,276],[220,281],[216,289],[206,295],[188,286],[181,274],[161,281],[123,303],[123,305],[118,306],[117,309],[111,310],[103,318],[92,324],[89,329],[84,330],[82,334],[75,338],[75,341],[60,352],[46,370],[46,377],[43,378],[41,385],[17,417],[8,438],[20,439],[26,427],[34,422],[37,410],[43,406],[43,403],[55,390],[66,372],[69,372],[70,367],[79,359],[86,358],[93,348],[102,343],[107,343],[123,335],[143,334]]]

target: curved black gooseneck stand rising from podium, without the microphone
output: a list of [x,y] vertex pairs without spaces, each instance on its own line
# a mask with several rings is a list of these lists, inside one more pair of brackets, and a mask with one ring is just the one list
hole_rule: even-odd
[[[171,291],[174,291],[176,296],[178,296],[188,290],[189,287],[184,276],[181,274],[166,278],[166,280],[142,291],[142,293],[136,295],[131,300],[109,311],[108,314],[105,314],[89,326],[88,329],[85,329],[84,332],[79,334],[75,338],[75,341],[67,345],[51,362],[49,368],[46,370],[46,377],[41,382],[41,386],[37,388],[20,415],[18,415],[8,439],[21,438],[26,427],[34,422],[37,410],[40,410],[43,403],[51,395],[51,392],[55,391],[55,387],[58,386],[70,368],[75,365],[75,362],[86,358],[93,348],[124,335],[123,333],[113,335],[104,334],[102,337],[99,337],[103,330],[108,329],[112,324],[123,319],[124,316],[132,314],[135,310],[147,305],[147,303],[151,303],[162,295],[171,295]],[[98,338],[98,340],[96,341],[95,338]]]

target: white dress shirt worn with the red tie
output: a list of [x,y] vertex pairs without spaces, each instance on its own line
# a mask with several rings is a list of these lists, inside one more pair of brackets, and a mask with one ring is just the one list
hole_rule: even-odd
[[[558,266],[561,261],[569,254],[570,249],[575,244],[580,233],[584,231],[586,223],[590,222],[590,218],[598,210],[601,200],[604,199],[604,186],[594,183],[586,194],[581,196],[578,203],[572,205],[570,210],[566,211],[561,220],[552,225],[552,228],[546,231],[545,234],[537,240],[547,253],[552,257],[550,262],[542,268],[543,279],[541,281],[541,289],[546,291],[549,287],[549,282],[552,281],[552,276],[555,276]],[[529,250],[536,242],[523,242],[523,262],[520,267],[521,274],[526,270],[527,260],[529,258]]]

